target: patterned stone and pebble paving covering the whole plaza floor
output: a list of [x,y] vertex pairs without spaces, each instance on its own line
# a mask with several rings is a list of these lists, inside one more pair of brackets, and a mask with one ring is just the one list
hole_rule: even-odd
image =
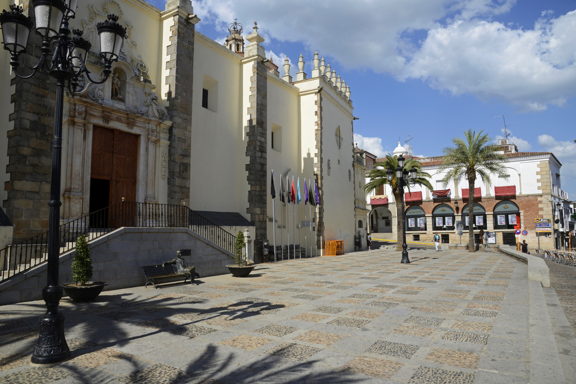
[[52,367],[29,363],[43,302],[3,306],[0,383],[574,382],[570,267],[551,266],[543,289],[502,254],[410,256],[382,247],[64,298],[72,359]]

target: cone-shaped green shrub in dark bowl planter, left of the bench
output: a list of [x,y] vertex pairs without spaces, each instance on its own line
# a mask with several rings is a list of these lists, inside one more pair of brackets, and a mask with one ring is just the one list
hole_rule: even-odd
[[74,283],[65,284],[64,290],[74,301],[90,301],[95,299],[108,283],[90,281],[92,279],[92,260],[90,260],[90,246],[84,235],[78,237],[75,248],[76,253],[72,262]]

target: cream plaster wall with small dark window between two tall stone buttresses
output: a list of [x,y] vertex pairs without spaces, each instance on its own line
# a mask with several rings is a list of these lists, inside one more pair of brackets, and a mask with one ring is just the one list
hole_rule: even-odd
[[[242,88],[249,88],[242,67],[251,65],[241,66],[241,56],[198,32],[194,49],[190,205],[194,210],[238,212],[249,218],[241,95]],[[217,107],[212,108],[218,112],[202,107],[204,75],[218,82]],[[206,166],[210,162],[217,163]]]

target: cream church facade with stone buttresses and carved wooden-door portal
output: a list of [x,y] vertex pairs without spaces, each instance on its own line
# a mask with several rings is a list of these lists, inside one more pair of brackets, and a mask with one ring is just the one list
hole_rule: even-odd
[[[164,11],[139,0],[91,1],[79,2],[70,23],[96,50],[89,70],[101,72],[98,22],[115,14],[127,38],[107,82],[84,82],[81,94],[65,97],[61,222],[124,198],[240,213],[253,224],[256,262],[275,231],[276,244],[287,244],[286,217],[291,237],[304,218],[312,221],[307,248],[344,240],[354,249],[353,103],[329,64],[316,54],[306,74],[301,55],[292,78],[286,58],[281,76],[256,24],[244,39],[234,22],[219,44],[196,32],[200,18],[189,0],[169,0]],[[22,67],[33,66],[39,47],[31,36]],[[2,201],[18,241],[48,226],[55,86],[47,75],[13,78],[9,54],[0,55]],[[313,220],[304,201],[293,212],[276,198],[272,214],[272,170],[276,191],[281,176],[284,187],[300,179],[302,200],[304,181],[317,184]],[[302,247],[305,230],[296,241]]]

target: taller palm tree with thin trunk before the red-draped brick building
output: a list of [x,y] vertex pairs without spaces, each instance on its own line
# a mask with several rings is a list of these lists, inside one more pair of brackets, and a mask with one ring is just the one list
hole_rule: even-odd
[[481,130],[476,133],[468,129],[468,132],[464,132],[466,141],[460,137],[454,137],[452,143],[456,147],[446,147],[442,150],[444,157],[439,169],[439,172],[446,172],[442,179],[444,188],[450,181],[459,183],[463,176],[468,176],[468,222],[470,224],[468,225],[468,252],[476,252],[472,224],[476,178],[480,176],[484,185],[489,187],[492,184],[490,174],[506,175],[506,166],[503,164],[506,157],[497,152],[500,150],[498,145],[487,144],[492,141],[492,138],[487,133],[483,135],[482,132]]

